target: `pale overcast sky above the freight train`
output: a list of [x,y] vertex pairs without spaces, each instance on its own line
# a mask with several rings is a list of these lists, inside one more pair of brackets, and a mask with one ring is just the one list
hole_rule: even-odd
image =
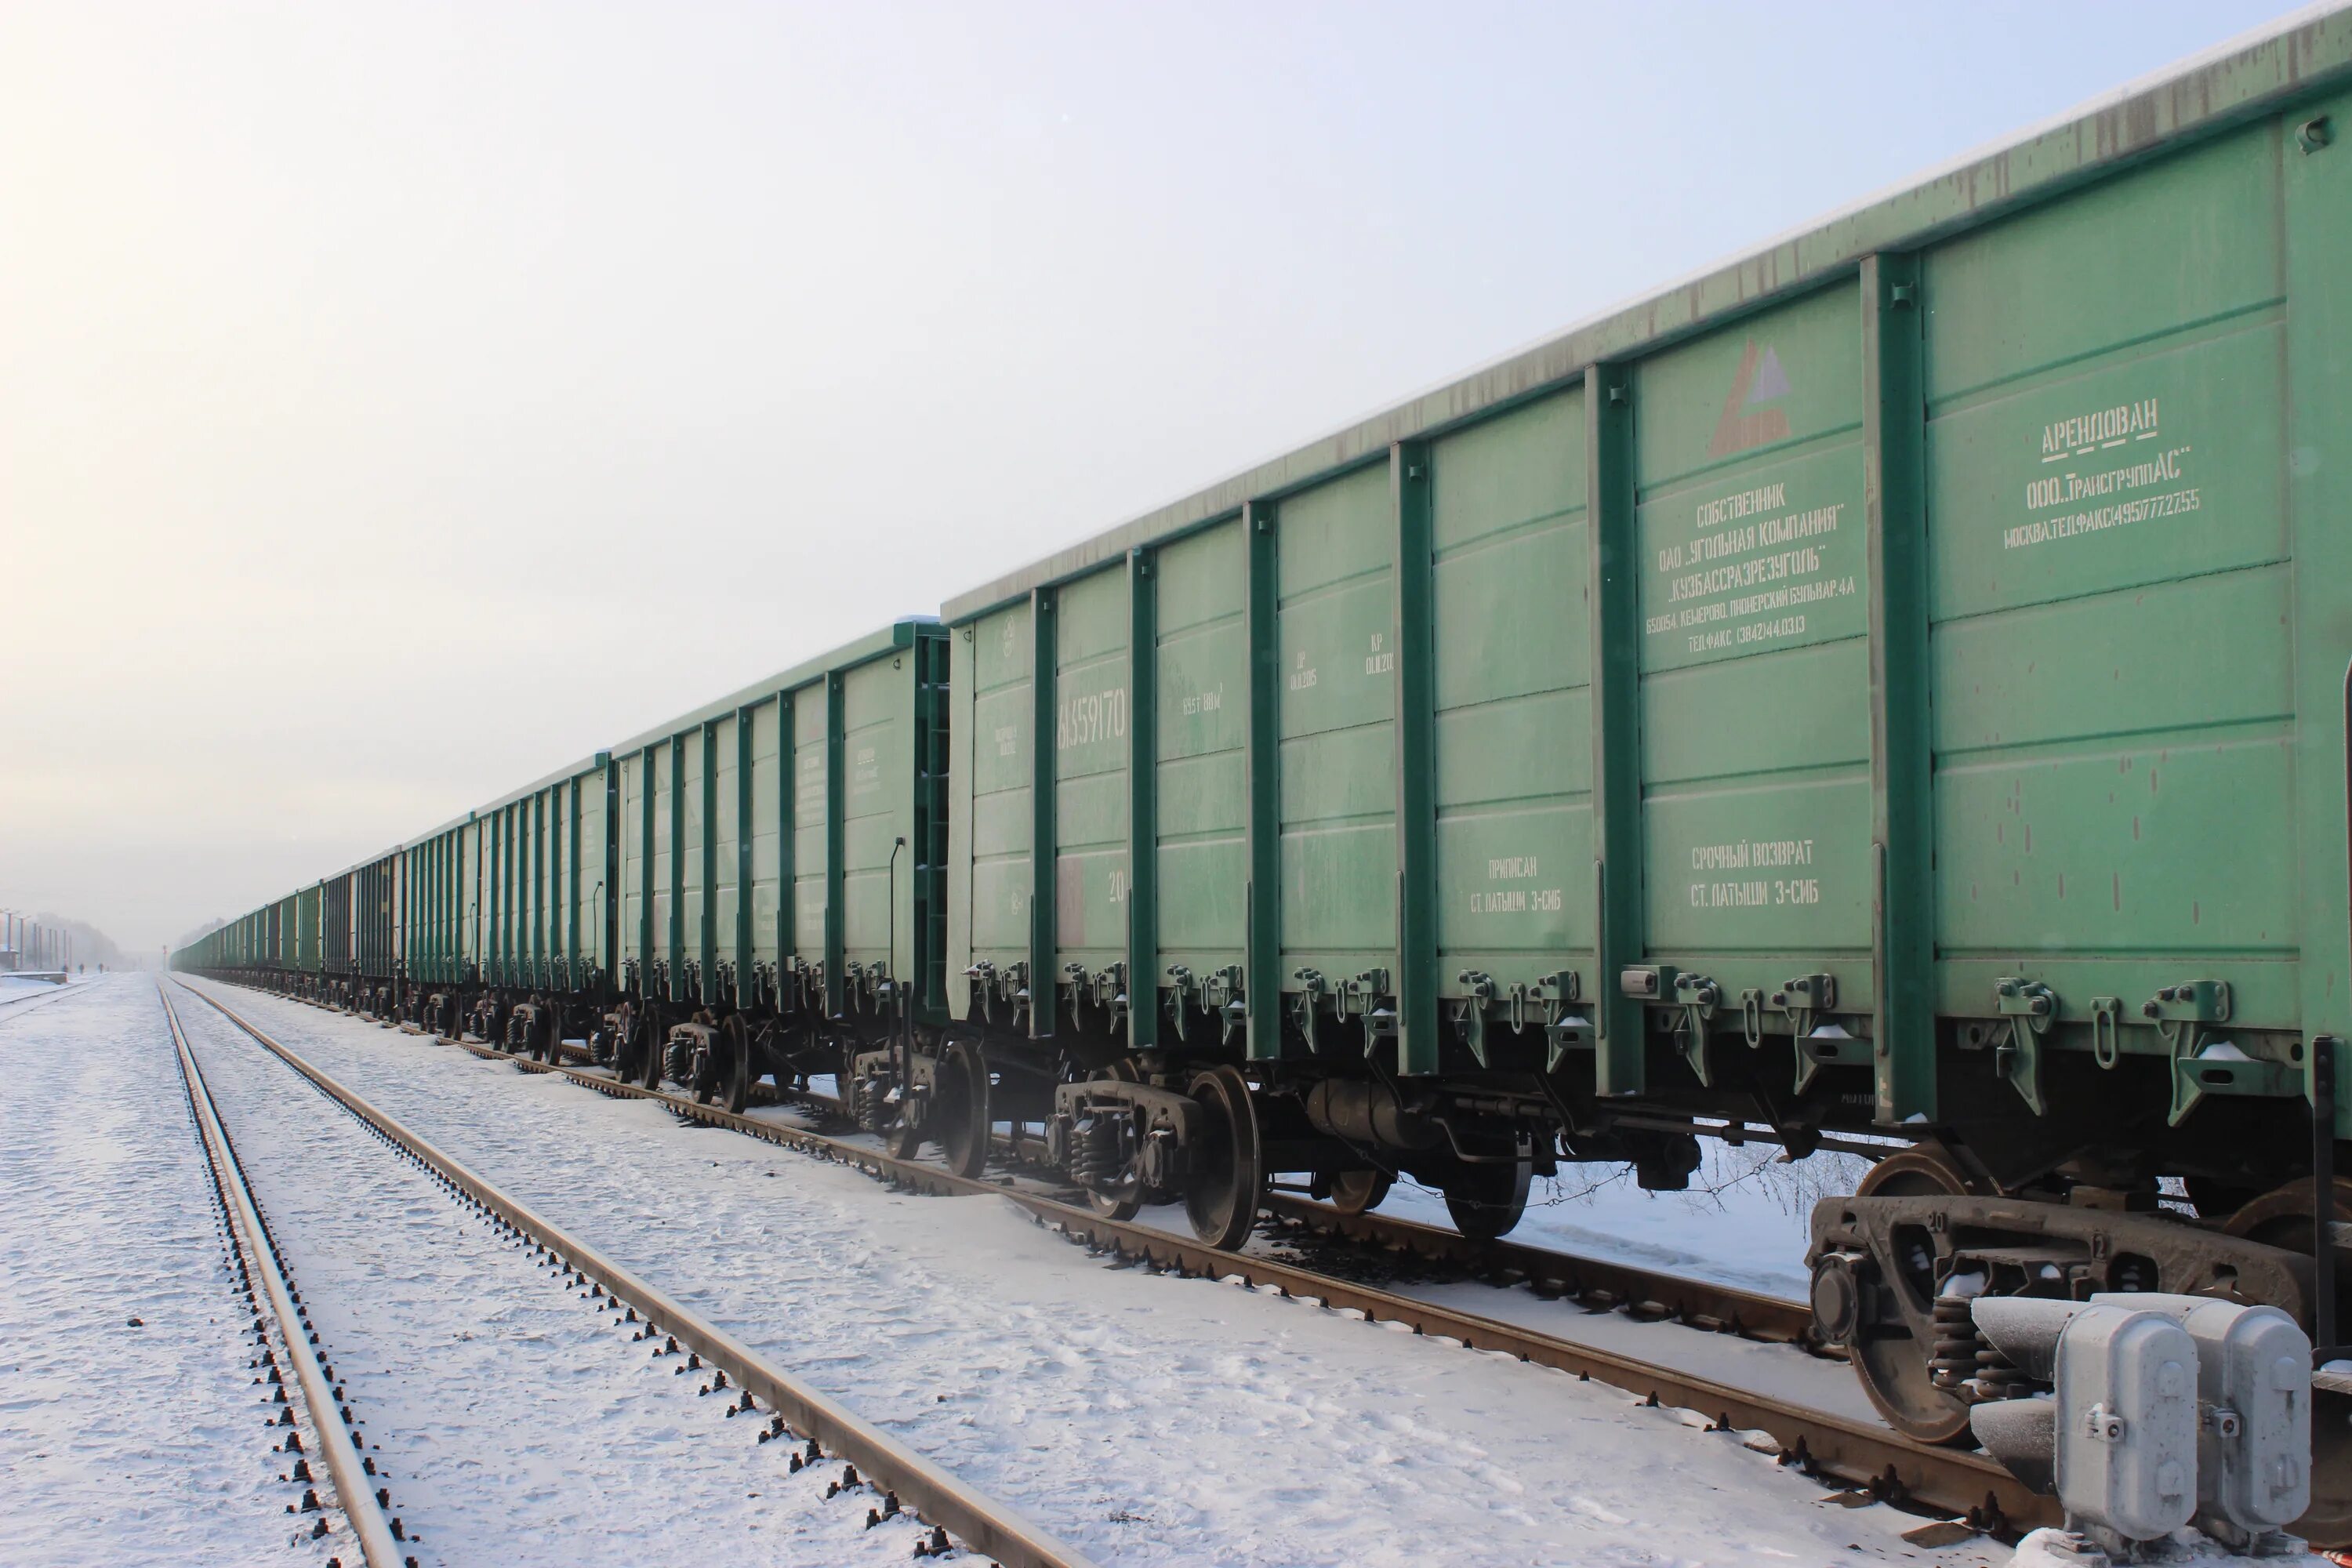
[[2263,24],[0,7],[0,905],[153,947]]

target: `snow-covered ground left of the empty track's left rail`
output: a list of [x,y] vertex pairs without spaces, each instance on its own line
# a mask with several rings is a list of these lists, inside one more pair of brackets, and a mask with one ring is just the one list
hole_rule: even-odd
[[0,1009],[0,1563],[322,1561],[292,1547],[155,983]]

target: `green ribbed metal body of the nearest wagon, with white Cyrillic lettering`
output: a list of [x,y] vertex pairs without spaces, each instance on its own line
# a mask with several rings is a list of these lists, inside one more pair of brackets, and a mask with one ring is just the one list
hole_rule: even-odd
[[1602,1098],[1987,1140],[2305,1095],[2347,61],[2288,28],[953,599],[955,1016],[1124,973],[1136,1048],[1550,1025]]

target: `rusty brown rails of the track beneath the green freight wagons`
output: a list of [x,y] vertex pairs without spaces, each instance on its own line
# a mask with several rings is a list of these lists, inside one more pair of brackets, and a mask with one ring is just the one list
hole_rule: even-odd
[[[202,994],[202,992],[198,992]],[[207,1001],[212,1001],[207,997]],[[214,1001],[214,1006],[221,1006]],[[226,1013],[226,1009],[223,1009]],[[230,1018],[235,1018],[230,1013]],[[252,1025],[238,1020],[254,1032]],[[447,1037],[433,1037],[445,1039]],[[1708,1429],[1726,1434],[1762,1432],[1780,1462],[1802,1467],[1825,1483],[1917,1512],[1966,1521],[1971,1530],[2009,1535],[2044,1523],[2058,1523],[2053,1500],[2030,1493],[2002,1465],[1976,1450],[1936,1448],[1912,1441],[1889,1427],[1818,1410],[1797,1401],[1757,1394],[1729,1382],[1663,1366],[1613,1349],[1602,1349],[1543,1333],[1522,1324],[1444,1307],[1378,1286],[1319,1272],[1254,1253],[1225,1253],[1188,1237],[1138,1222],[1108,1220],[1091,1208],[1063,1201],[1035,1185],[1002,1178],[960,1178],[920,1159],[896,1159],[866,1143],[797,1128],[760,1117],[727,1112],[684,1093],[623,1084],[572,1063],[541,1063],[473,1039],[447,1041],[487,1060],[506,1060],[524,1072],[560,1074],[583,1088],[612,1098],[656,1100],[675,1114],[722,1126],[774,1145],[854,1166],[894,1187],[927,1194],[995,1194],[1025,1208],[1035,1222],[1061,1232],[1091,1253],[1129,1262],[1148,1272],[1185,1279],[1240,1279],[1242,1284],[1319,1302],[1327,1309],[1355,1312],[1367,1321],[1388,1321],[1416,1333],[1439,1335],[1468,1349],[1512,1354],[1536,1366],[1550,1366],[1578,1378],[1606,1382],[1653,1406],[1672,1406],[1705,1418]],[[804,1103],[837,1110],[826,1095]],[[1348,1234],[1367,1246],[1404,1248],[1423,1255],[1470,1260],[1486,1274],[1524,1279],[1538,1293],[1588,1295],[1595,1305],[1623,1305],[1635,1316],[1672,1319],[1693,1328],[1740,1333],[1802,1347],[1809,1340],[1806,1312],[1795,1302],[1703,1281],[1675,1279],[1649,1269],[1571,1258],[1545,1248],[1482,1248],[1428,1225],[1381,1215],[1341,1215],[1322,1204],[1275,1194],[1270,1208],[1298,1225]]]

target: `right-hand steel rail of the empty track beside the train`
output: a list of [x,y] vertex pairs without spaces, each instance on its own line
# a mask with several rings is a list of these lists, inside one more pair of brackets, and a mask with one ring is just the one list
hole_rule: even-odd
[[898,1439],[884,1434],[880,1427],[873,1427],[849,1408],[826,1399],[807,1385],[795,1382],[771,1363],[762,1361],[748,1345],[703,1321],[668,1293],[602,1255],[586,1241],[567,1234],[553,1220],[546,1220],[513,1197],[499,1192],[461,1161],[433,1147],[421,1135],[256,1030],[216,997],[195,987],[186,990],[193,997],[202,997],[212,1009],[228,1018],[228,1023],[245,1030],[245,1034],[278,1056],[278,1060],[287,1067],[310,1079],[310,1084],[343,1105],[343,1110],[437,1171],[452,1187],[482,1204],[515,1229],[536,1239],[555,1253],[557,1260],[569,1262],[574,1269],[604,1286],[607,1293],[635,1307],[649,1326],[673,1335],[684,1349],[691,1349],[703,1361],[727,1373],[743,1392],[755,1394],[774,1413],[783,1415],[795,1432],[814,1439],[826,1453],[856,1465],[858,1472],[875,1486],[898,1493],[922,1519],[943,1526],[969,1549],[993,1556],[1007,1568],[1094,1568],[1091,1561],[1075,1547],[1051,1537],[1014,1509],[983,1497],[978,1490],[957,1481],[946,1469],[922,1458]]

